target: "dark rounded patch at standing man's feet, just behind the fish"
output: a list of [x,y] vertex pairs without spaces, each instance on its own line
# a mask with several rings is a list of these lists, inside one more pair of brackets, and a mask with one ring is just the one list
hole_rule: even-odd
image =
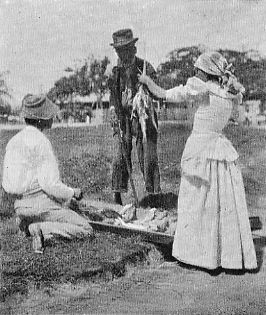
[[163,208],[165,210],[174,209],[177,206],[178,196],[172,192],[161,194],[150,194],[140,201],[143,208]]

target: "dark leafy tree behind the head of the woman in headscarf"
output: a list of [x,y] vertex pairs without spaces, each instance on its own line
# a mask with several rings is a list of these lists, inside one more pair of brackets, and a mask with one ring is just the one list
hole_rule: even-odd
[[[194,63],[205,49],[191,46],[175,49],[168,54],[168,60],[158,67],[159,84],[169,89],[185,84],[194,74]],[[233,64],[235,75],[246,89],[245,98],[266,99],[266,59],[258,51],[239,52],[220,49],[219,52]]]

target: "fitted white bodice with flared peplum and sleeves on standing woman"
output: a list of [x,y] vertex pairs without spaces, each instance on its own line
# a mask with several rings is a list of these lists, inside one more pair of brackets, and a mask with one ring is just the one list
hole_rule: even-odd
[[183,174],[209,181],[209,160],[234,162],[238,159],[238,153],[222,134],[222,130],[231,116],[233,107],[242,102],[241,93],[234,95],[216,83],[203,82],[192,77],[185,86],[168,90],[166,100],[193,100],[198,106],[193,130],[182,155]]

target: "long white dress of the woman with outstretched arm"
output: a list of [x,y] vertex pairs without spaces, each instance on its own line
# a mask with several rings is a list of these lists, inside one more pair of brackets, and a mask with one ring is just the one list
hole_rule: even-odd
[[193,131],[181,160],[173,256],[207,269],[255,269],[238,153],[222,134],[233,105],[242,101],[213,82],[190,78],[167,91],[168,101],[198,102]]

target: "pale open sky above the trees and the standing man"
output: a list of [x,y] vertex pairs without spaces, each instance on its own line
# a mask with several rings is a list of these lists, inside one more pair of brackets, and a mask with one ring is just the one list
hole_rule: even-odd
[[176,48],[254,49],[266,56],[266,0],[0,0],[0,72],[18,106],[64,69],[108,56],[112,33],[132,28],[154,67]]

